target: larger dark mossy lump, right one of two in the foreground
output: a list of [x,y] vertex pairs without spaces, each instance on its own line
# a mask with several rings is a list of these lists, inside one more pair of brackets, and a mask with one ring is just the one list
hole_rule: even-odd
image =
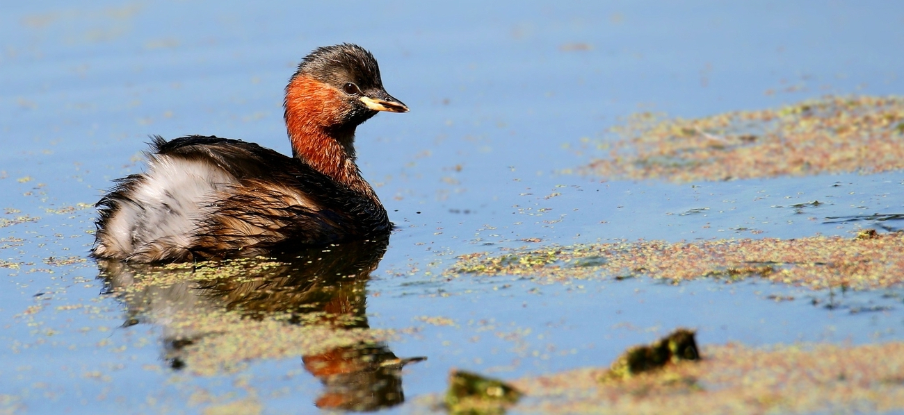
[[678,328],[651,345],[631,347],[618,356],[600,381],[628,379],[637,374],[662,369],[666,364],[700,360],[695,334],[693,330]]

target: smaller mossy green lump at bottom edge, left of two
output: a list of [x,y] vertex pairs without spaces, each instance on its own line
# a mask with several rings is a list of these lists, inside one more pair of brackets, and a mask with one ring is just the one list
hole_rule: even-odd
[[502,381],[453,370],[449,374],[446,408],[453,414],[501,414],[521,396],[521,392]]

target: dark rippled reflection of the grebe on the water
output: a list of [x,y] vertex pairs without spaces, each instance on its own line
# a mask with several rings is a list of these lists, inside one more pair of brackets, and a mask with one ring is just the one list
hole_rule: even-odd
[[[282,322],[268,327],[372,332],[365,310],[365,289],[388,242],[388,238],[358,241],[306,248],[266,260],[241,260],[223,266],[232,269],[226,277],[216,276],[216,272],[212,277],[197,277],[218,270],[209,263],[202,265],[206,267],[202,272],[200,264],[186,268],[99,260],[100,278],[106,281],[105,291],[126,305],[126,326],[151,323],[161,327],[169,366],[191,370],[198,344],[224,336],[225,330],[219,324],[186,323],[211,314],[240,316],[233,321],[276,318]],[[239,272],[235,272],[237,265]],[[271,342],[278,337],[276,332],[271,335],[258,341]],[[301,353],[305,369],[325,386],[315,404],[325,409],[377,410],[404,401],[401,370],[405,364],[425,357],[399,358],[383,341],[366,335],[353,338],[342,346]]]

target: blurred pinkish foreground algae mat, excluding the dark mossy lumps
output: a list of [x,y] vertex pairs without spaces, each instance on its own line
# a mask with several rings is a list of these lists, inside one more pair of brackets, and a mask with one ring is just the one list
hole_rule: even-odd
[[704,346],[695,364],[618,382],[603,368],[513,381],[519,413],[879,413],[904,409],[904,343]]

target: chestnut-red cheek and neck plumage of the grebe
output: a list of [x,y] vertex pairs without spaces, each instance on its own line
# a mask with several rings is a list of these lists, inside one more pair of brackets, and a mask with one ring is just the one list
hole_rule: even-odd
[[298,75],[286,88],[286,128],[292,155],[333,180],[375,198],[371,186],[354,163],[355,124],[341,124],[345,102],[342,93],[323,83]]

